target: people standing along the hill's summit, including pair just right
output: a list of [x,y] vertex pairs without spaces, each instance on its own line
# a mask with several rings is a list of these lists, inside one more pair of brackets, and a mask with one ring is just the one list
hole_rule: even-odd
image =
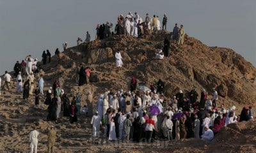
[[[167,22],[168,18],[166,13],[164,13],[162,29],[166,30]],[[95,39],[102,40],[111,37],[113,34],[138,37],[142,36],[145,30],[159,31],[160,29],[161,23],[157,15],[153,15],[153,18],[150,18],[147,13],[143,21],[137,12],[134,12],[134,15],[129,12],[125,17],[122,14],[118,16],[114,30],[113,23],[106,22],[106,24],[97,24]],[[178,44],[182,45],[184,43],[184,34],[183,25],[180,25],[179,28],[177,24],[175,24],[175,27],[173,27],[172,40],[176,40]]]

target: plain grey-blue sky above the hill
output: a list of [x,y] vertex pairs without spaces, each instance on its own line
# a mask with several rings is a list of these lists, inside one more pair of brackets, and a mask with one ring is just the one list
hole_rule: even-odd
[[232,48],[256,66],[255,0],[0,0],[0,74],[11,71],[26,55],[42,59],[62,43],[76,45],[86,31],[106,21],[116,24],[120,13],[137,11],[145,18],[168,16],[168,31],[175,22],[206,45]]

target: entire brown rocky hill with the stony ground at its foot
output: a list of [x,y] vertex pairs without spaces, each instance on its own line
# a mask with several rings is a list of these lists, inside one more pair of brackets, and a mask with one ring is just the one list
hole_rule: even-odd
[[[231,49],[207,47],[199,40],[185,37],[184,45],[171,42],[170,57],[163,61],[154,59],[156,48],[163,47],[164,37],[170,33],[159,31],[148,33],[143,38],[124,36],[95,40],[68,48],[55,55],[52,62],[42,66],[45,91],[51,87],[60,75],[65,78],[64,89],[68,96],[80,92],[81,105],[86,105],[88,91],[95,89],[93,102],[99,94],[113,89],[129,91],[129,82],[133,74],[139,84],[156,84],[161,78],[165,82],[164,96],[171,98],[179,89],[189,92],[193,87],[200,94],[204,88],[211,95],[215,87],[220,94],[220,103],[225,107],[236,105],[255,106],[256,69]],[[115,68],[115,52],[121,50],[124,67]],[[96,82],[77,86],[76,68],[79,64],[91,66]],[[38,77],[38,76],[37,76]],[[100,140],[92,144],[90,117],[81,116],[77,124],[70,125],[68,118],[62,117],[58,124],[45,121],[47,106],[33,105],[34,99],[23,101],[22,94],[15,92],[15,80],[11,84],[12,92],[2,91],[0,96],[0,152],[28,152],[28,134],[31,124],[38,126],[40,140],[38,152],[46,152],[47,129],[55,125],[58,133],[57,152],[255,152],[255,122],[230,124],[221,129],[213,142],[202,140],[172,140],[152,145],[145,143],[109,143]],[[211,96],[210,96],[211,97]],[[44,99],[40,100],[44,103]],[[94,105],[95,106],[95,105]],[[239,114],[239,111],[237,111]],[[228,142],[226,140],[227,137]],[[250,142],[249,142],[250,140]],[[246,143],[246,144],[245,144]],[[125,147],[124,147],[125,146]]]

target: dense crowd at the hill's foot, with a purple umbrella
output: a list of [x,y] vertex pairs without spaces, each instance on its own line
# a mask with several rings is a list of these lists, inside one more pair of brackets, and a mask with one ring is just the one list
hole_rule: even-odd
[[164,83],[159,80],[157,88],[151,85],[148,91],[131,88],[132,92],[120,90],[100,94],[97,112],[91,122],[93,138],[100,137],[102,125],[104,131],[101,136],[110,141],[150,143],[157,139],[186,138],[211,141],[221,127],[253,120],[252,107],[244,107],[241,115],[236,115],[236,106],[228,110],[223,105],[217,107],[218,92],[215,89],[212,89],[211,98],[203,89],[200,99],[196,89],[186,94],[180,90],[172,99],[165,98],[163,90]]

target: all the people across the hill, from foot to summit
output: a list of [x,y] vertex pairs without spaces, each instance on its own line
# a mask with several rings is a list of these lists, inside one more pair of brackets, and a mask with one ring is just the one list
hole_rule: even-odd
[[[164,14],[162,29],[166,29],[168,22],[167,15]],[[154,15],[150,18],[148,13],[145,20],[137,12],[132,15],[131,12],[126,17],[118,16],[118,21],[113,31],[113,24],[97,25],[97,40],[111,37],[113,34],[124,34],[125,36],[141,36],[145,30],[159,31],[161,24],[159,17]],[[171,40],[175,40],[179,45],[184,43],[184,28],[177,24],[173,27]],[[86,32],[85,41],[90,41],[90,34]],[[77,38],[77,45],[83,42]],[[67,42],[63,43],[63,50],[67,50]],[[164,48],[158,48],[156,58],[163,59],[169,55],[170,41],[164,38]],[[60,50],[56,48],[56,55],[60,55]],[[122,55],[118,50],[115,53],[116,68],[122,68]],[[100,94],[97,99],[97,112],[93,115],[93,89],[88,93],[87,106],[81,106],[81,94],[76,93],[72,100],[64,92],[65,80],[60,77],[54,81],[52,87],[49,87],[44,93],[44,75],[40,75],[36,80],[34,74],[40,72],[41,66],[37,64],[38,59],[33,59],[28,55],[26,59],[16,62],[14,66],[17,82],[17,92],[23,92],[23,99],[28,100],[35,96],[35,106],[40,104],[40,98],[44,98],[44,105],[47,107],[47,120],[58,122],[61,117],[69,117],[70,123],[77,122],[77,117],[82,114],[92,116],[92,136],[93,142],[96,138],[104,136],[109,141],[120,140],[129,143],[129,141],[152,143],[155,140],[180,140],[185,138],[202,138],[202,140],[211,141],[221,127],[234,122],[253,120],[252,107],[245,106],[240,115],[236,115],[236,106],[226,110],[224,105],[218,106],[218,92],[212,89],[212,96],[208,96],[205,89],[202,89],[200,99],[198,92],[192,89],[190,92],[177,92],[173,98],[164,96],[164,82],[159,79],[156,85],[150,85],[147,89],[137,88],[137,81],[134,76],[131,78],[130,91],[114,92],[106,91]],[[42,54],[42,63],[51,62],[51,53],[49,50]],[[79,65],[77,68],[78,85],[90,84],[90,75],[92,69],[90,66],[84,68]],[[5,71],[4,88],[10,91],[10,82],[12,76]],[[24,79],[25,78],[25,79]],[[24,79],[24,80],[22,80]],[[36,87],[35,82],[37,81]],[[22,82],[24,84],[22,85]],[[155,87],[156,86],[156,87]],[[34,89],[35,88],[35,89]],[[1,89],[1,78],[0,78]],[[1,92],[0,92],[1,94]],[[100,132],[100,126],[104,129]],[[37,148],[38,131],[36,128],[29,134],[31,140],[31,152]],[[56,131],[53,127],[49,131],[48,152],[53,152],[53,145],[56,139]]]

